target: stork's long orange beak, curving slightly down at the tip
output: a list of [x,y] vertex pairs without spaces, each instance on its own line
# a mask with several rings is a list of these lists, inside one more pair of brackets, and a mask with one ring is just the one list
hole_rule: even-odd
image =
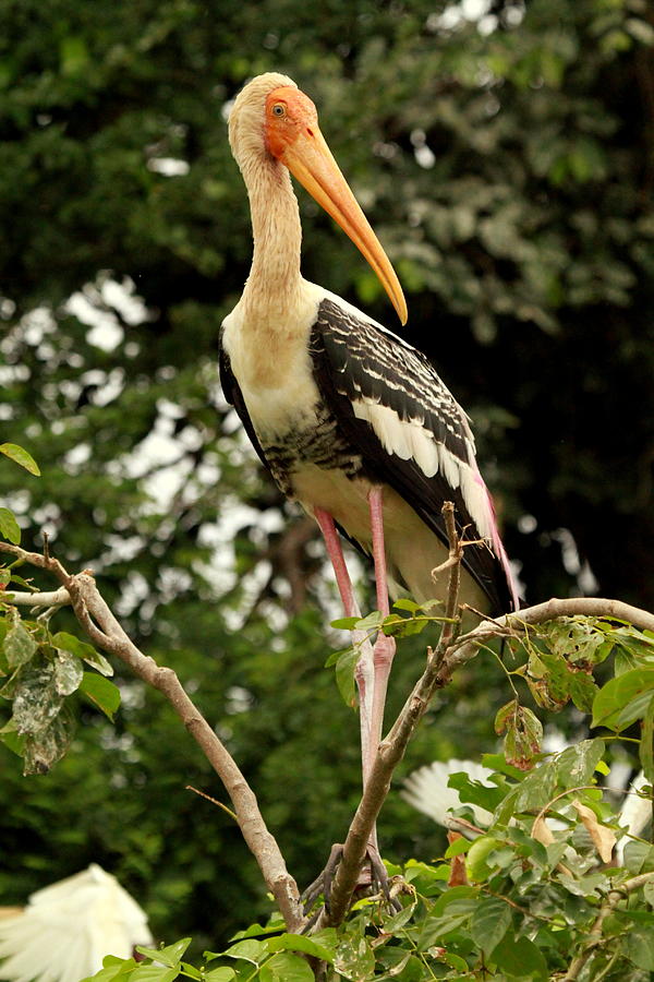
[[407,301],[396,272],[317,125],[300,132],[280,159],[363,253],[405,324]]

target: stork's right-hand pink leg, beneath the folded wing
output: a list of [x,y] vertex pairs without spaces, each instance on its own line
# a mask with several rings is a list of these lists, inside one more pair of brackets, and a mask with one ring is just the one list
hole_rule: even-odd
[[[388,616],[390,607],[388,602],[388,586],[386,582],[386,552],[384,548],[384,492],[382,488],[373,488],[368,494],[371,510],[371,530],[373,536],[373,560],[375,563],[375,586],[377,589],[377,608]],[[382,740],[384,727],[384,706],[386,704],[386,691],[388,676],[395,658],[396,643],[393,637],[386,637],[379,632],[373,649],[375,666],[375,684],[373,690],[373,708],[371,719],[371,761],[377,751]]]

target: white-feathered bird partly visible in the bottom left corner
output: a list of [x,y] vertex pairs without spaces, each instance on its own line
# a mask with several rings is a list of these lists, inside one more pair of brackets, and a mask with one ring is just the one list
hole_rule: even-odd
[[32,894],[22,913],[0,920],[2,982],[80,982],[106,955],[130,958],[150,945],[147,918],[117,878],[87,870]]

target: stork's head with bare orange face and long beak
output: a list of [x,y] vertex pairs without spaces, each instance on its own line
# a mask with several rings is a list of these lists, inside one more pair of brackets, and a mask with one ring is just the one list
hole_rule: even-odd
[[245,180],[257,165],[288,167],[361,250],[404,324],[407,302],[398,277],[320,133],[308,96],[287,75],[258,75],[237,96],[229,142]]

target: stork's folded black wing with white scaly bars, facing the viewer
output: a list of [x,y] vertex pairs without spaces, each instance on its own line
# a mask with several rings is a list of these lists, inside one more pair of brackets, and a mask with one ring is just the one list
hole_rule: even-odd
[[[426,476],[412,458],[384,447],[371,423],[360,419],[354,403],[367,398],[414,420],[433,433],[447,454],[474,466],[474,442],[467,417],[428,359],[395,335],[325,299],[311,337],[314,378],[343,434],[365,460],[368,477],[393,488],[447,546],[440,513],[444,501],[456,507],[465,538],[480,537],[462,489],[453,488],[439,467]],[[489,547],[470,546],[463,565],[487,595],[493,613],[513,607],[507,573]]]

